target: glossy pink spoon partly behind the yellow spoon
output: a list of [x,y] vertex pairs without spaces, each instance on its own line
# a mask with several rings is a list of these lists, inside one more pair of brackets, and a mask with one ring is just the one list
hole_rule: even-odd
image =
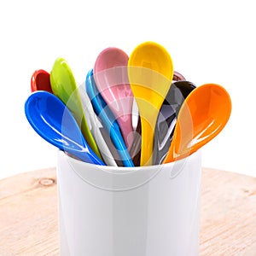
[[128,55],[121,49],[102,50],[94,66],[94,79],[105,102],[115,115],[126,147],[131,148],[133,94],[128,80]]

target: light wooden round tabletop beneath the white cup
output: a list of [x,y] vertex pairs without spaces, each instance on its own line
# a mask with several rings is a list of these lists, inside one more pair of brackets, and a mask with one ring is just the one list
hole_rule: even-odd
[[[0,255],[59,255],[55,168],[0,180]],[[202,169],[200,255],[256,255],[255,177]]]

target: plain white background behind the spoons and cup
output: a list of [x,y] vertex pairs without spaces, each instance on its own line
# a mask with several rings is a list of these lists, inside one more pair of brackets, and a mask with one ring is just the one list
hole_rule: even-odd
[[83,82],[102,49],[129,55],[148,40],[166,47],[186,79],[230,92],[229,124],[203,148],[203,166],[256,176],[255,24],[253,0],[2,1],[0,178],[55,166],[56,149],[24,113],[34,70],[50,71],[62,56]]

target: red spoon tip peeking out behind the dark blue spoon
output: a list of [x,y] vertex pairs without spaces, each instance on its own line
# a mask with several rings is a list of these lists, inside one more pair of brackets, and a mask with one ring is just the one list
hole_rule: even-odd
[[31,78],[31,91],[36,90],[46,90],[52,93],[50,82],[49,82],[49,73],[43,69],[36,70],[32,74]]

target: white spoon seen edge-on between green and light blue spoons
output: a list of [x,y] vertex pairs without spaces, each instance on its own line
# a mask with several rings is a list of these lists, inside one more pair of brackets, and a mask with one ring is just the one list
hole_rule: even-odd
[[97,119],[96,114],[91,106],[90,98],[85,91],[85,86],[82,85],[79,86],[79,94],[81,96],[85,117],[88,121],[88,125],[90,126],[90,131],[93,137],[95,137],[97,146],[100,149],[102,158],[107,166],[117,166],[115,160],[113,159],[113,155],[108,148],[108,144],[102,137],[102,132],[100,131],[98,125],[99,120]]

